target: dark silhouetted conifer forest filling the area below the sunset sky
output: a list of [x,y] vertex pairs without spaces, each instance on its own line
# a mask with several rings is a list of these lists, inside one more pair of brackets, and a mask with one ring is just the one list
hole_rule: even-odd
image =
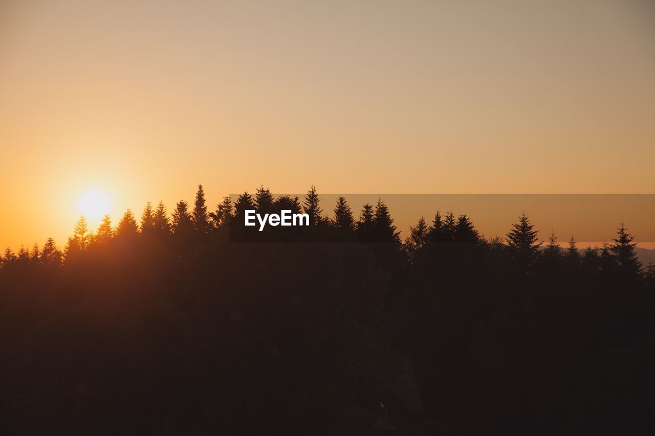
[[[282,208],[311,214],[303,242],[231,242],[246,209]],[[210,208],[198,185],[191,210],[6,249],[0,433],[347,435],[364,415],[400,434],[652,433],[655,266],[629,228],[581,252],[527,213],[487,239],[461,212],[403,241],[383,199],[261,186]],[[399,356],[420,410],[394,396]]]

